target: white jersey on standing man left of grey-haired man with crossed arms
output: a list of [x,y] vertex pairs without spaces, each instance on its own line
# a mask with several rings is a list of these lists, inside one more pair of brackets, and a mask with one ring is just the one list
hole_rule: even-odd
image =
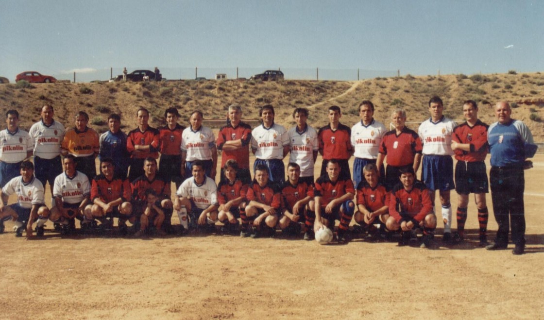
[[215,136],[210,128],[200,126],[193,131],[189,126],[181,136],[181,151],[187,152],[187,161],[211,160],[212,148],[215,147]]

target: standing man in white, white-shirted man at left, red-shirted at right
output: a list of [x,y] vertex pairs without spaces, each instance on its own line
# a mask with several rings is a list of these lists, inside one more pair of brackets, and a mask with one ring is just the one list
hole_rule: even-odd
[[289,162],[300,166],[301,182],[308,186],[315,181],[313,178],[313,165],[316,163],[317,152],[319,151],[319,139],[317,131],[308,126],[308,109],[296,108],[293,111],[293,118],[296,126],[288,131],[290,141]]

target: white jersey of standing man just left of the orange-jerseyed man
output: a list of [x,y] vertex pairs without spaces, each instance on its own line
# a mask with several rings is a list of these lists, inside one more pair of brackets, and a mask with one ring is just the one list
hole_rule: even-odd
[[60,122],[53,121],[47,126],[40,120],[30,127],[28,134],[34,140],[34,156],[53,159],[60,155],[60,144],[64,137],[64,126]]

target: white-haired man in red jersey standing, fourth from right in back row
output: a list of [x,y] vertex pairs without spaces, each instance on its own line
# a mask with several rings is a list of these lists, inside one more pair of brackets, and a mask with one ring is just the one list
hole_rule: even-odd
[[423,150],[417,133],[405,126],[406,112],[403,109],[393,110],[391,122],[395,128],[388,131],[381,140],[380,153],[376,161],[378,170],[382,171],[384,158],[387,156],[385,186],[390,190],[399,183],[400,169],[412,167],[413,172],[417,172]]

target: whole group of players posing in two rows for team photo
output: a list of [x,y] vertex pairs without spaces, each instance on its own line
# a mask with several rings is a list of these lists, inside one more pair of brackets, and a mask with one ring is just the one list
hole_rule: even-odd
[[[415,130],[405,125],[405,110],[394,109],[394,128],[388,130],[374,119],[371,101],[359,104],[360,119],[351,127],[341,121],[341,108],[330,106],[329,124],[316,130],[306,108],[293,110],[296,125],[287,129],[275,123],[274,107],[267,104],[259,109],[261,124],[251,128],[242,121],[242,107],[232,104],[217,137],[202,125],[200,111],[191,113],[184,127],[178,110],[168,108],[166,125],[153,128],[149,111],[140,108],[137,127],[128,134],[121,131],[121,120],[134,118],[111,114],[109,130],[99,135],[83,111],[66,129],[46,104],[41,120],[25,131],[17,110],[8,110],[7,128],[0,132],[0,233],[4,221],[13,220],[15,236],[44,237],[50,220],[51,232],[61,235],[218,233],[322,244],[363,238],[431,248],[439,222],[443,243],[466,242],[465,223],[473,216],[478,245],[506,249],[510,238],[512,253],[523,254],[524,170],[532,167],[527,159],[537,149],[529,128],[512,118],[508,102],[493,106],[497,122],[489,126],[478,119],[472,100],[449,106],[462,110],[460,124],[443,115],[440,97],[432,97],[428,107],[429,118]],[[321,170],[314,168],[318,155]],[[450,201],[452,190],[457,204]],[[498,225],[492,243],[489,192]],[[8,203],[14,194],[16,200]],[[440,208],[434,205],[436,194]],[[475,208],[468,210],[471,194]],[[174,215],[179,223],[172,225]]]

